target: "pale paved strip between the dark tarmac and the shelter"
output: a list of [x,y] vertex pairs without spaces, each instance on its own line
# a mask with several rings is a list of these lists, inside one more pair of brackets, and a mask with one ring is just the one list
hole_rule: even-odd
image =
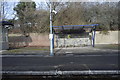
[[[49,51],[39,51],[39,52],[35,52],[35,51],[32,51],[32,52],[17,52],[17,53],[3,53],[7,50],[2,50],[0,51],[0,54],[2,56],[44,56],[44,57],[48,57],[49,56]],[[111,53],[111,52],[118,52],[120,50],[112,50],[112,49],[98,49],[98,48],[93,48],[93,47],[68,47],[68,48],[55,48],[54,49],[54,53],[55,55],[61,55],[61,54],[75,54],[75,53],[79,53],[80,55],[91,55],[92,53],[94,53],[93,55],[98,55],[97,52],[108,52],[108,53]],[[102,53],[101,53],[102,54]]]

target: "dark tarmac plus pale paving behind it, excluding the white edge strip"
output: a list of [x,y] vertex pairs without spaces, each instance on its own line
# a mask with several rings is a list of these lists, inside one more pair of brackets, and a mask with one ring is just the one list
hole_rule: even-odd
[[118,70],[118,50],[84,48],[56,48],[49,52],[3,53],[3,71],[83,71]]

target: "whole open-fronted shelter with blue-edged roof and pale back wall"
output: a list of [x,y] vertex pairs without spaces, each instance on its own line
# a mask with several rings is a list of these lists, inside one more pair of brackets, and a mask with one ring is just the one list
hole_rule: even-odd
[[98,24],[53,26],[57,47],[93,46]]

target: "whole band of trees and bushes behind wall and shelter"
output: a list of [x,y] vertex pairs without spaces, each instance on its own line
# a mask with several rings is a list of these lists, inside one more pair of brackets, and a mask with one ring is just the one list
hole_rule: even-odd
[[[46,5],[47,4],[47,5]],[[108,30],[120,30],[118,26],[117,2],[52,2],[57,14],[52,14],[53,26],[99,24],[97,30],[106,34]],[[19,2],[14,11],[23,34],[49,32],[49,2]]]

